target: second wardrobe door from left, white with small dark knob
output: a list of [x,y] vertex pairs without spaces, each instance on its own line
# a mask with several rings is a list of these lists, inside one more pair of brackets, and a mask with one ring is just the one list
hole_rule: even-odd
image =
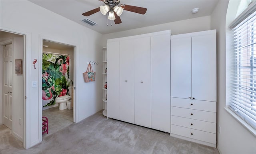
[[134,40],[120,41],[120,120],[134,123]]

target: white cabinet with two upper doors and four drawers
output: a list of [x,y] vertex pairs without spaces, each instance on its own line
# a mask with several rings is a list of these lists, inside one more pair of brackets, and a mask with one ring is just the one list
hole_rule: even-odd
[[216,30],[171,36],[171,136],[216,147]]

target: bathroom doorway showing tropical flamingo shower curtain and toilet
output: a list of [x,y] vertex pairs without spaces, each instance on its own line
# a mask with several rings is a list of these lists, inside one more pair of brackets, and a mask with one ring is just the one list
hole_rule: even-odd
[[74,66],[75,46],[42,39],[42,116],[48,119],[43,137],[75,122]]

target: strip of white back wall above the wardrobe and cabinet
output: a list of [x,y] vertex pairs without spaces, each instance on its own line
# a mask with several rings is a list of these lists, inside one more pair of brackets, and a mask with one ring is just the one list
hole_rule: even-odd
[[203,17],[198,17],[193,19],[169,22],[166,24],[159,24],[154,26],[137,28],[133,30],[126,30],[122,32],[104,34],[102,46],[106,46],[107,39],[159,32],[163,30],[171,30],[171,33],[173,35],[210,30],[210,21],[211,21],[210,16],[203,16]]

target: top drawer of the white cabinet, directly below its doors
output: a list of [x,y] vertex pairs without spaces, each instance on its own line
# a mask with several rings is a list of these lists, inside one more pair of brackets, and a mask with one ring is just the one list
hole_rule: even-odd
[[172,97],[171,106],[216,112],[216,102],[203,101],[203,100],[192,100],[192,99]]

